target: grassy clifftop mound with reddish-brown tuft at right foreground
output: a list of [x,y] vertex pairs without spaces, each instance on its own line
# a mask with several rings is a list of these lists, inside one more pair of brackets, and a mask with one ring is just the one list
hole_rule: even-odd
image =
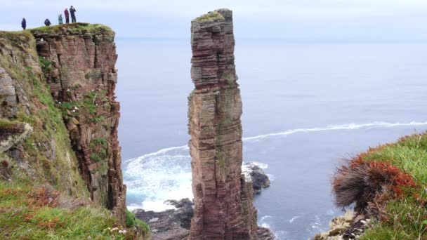
[[427,133],[371,148],[334,179],[339,206],[373,218],[360,239],[427,239]]

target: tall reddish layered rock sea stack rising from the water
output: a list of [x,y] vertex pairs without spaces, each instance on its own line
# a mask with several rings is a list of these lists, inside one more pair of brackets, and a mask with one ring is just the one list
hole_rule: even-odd
[[251,182],[242,175],[242,100],[232,11],[192,20],[189,97],[195,215],[188,239],[256,239]]

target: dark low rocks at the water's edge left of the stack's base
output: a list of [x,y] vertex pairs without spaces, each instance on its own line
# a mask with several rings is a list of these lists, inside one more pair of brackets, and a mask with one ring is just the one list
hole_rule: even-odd
[[194,214],[193,202],[190,199],[168,200],[168,204],[176,209],[162,212],[133,211],[136,218],[147,222],[152,232],[152,239],[176,240],[186,239],[190,230],[191,218]]

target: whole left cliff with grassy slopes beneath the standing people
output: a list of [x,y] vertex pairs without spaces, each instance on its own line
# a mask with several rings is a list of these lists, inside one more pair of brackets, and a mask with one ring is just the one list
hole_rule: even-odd
[[[134,228],[143,223],[126,212],[117,140],[119,102],[114,100],[116,60],[114,32],[102,25],[0,32],[0,229],[6,234],[0,236],[18,234],[15,225],[31,229],[32,224],[44,236],[34,220],[43,210],[86,219],[94,229],[85,232],[88,236],[149,237],[147,229]],[[31,214],[18,211],[19,219],[5,223],[11,220],[13,203],[18,204],[10,202],[11,195],[19,203],[20,197],[25,199],[24,209]],[[50,222],[63,219],[55,214]],[[98,217],[103,220],[97,222]],[[47,229],[59,231],[68,224],[72,222]],[[135,231],[104,231],[108,226]],[[36,237],[20,234],[13,236]],[[87,237],[68,237],[77,236]]]

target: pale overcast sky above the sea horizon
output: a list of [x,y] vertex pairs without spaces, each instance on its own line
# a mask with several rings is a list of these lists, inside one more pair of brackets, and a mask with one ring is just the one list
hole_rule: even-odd
[[28,27],[56,24],[70,5],[79,22],[109,25],[119,38],[188,38],[193,18],[226,7],[239,38],[427,39],[427,0],[0,0],[0,29],[20,29],[22,17]]

